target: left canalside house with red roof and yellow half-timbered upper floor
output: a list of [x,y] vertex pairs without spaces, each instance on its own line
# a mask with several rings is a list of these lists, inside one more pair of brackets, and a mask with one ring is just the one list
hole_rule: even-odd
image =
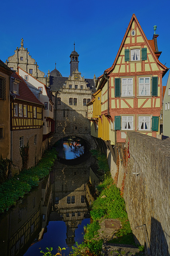
[[29,145],[27,168],[34,166],[43,154],[43,108],[18,72],[11,77],[10,130],[11,158],[18,173],[23,166],[20,149]]

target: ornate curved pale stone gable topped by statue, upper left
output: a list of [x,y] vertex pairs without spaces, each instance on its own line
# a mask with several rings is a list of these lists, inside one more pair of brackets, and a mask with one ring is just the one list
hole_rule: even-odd
[[31,76],[48,86],[47,76],[44,77],[45,73],[39,70],[37,62],[31,58],[27,48],[23,48],[23,38],[21,39],[21,47],[17,47],[14,52],[15,54],[8,57],[8,60],[6,60],[6,65],[12,70],[17,70],[18,66],[20,66],[20,68],[25,70]]

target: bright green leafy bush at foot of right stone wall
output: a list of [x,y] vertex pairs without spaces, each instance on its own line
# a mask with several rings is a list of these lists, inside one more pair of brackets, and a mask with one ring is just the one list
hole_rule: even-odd
[[100,218],[127,217],[125,201],[120,196],[120,190],[113,184],[112,178],[106,177],[99,185],[100,196],[94,201],[90,214],[93,220]]

